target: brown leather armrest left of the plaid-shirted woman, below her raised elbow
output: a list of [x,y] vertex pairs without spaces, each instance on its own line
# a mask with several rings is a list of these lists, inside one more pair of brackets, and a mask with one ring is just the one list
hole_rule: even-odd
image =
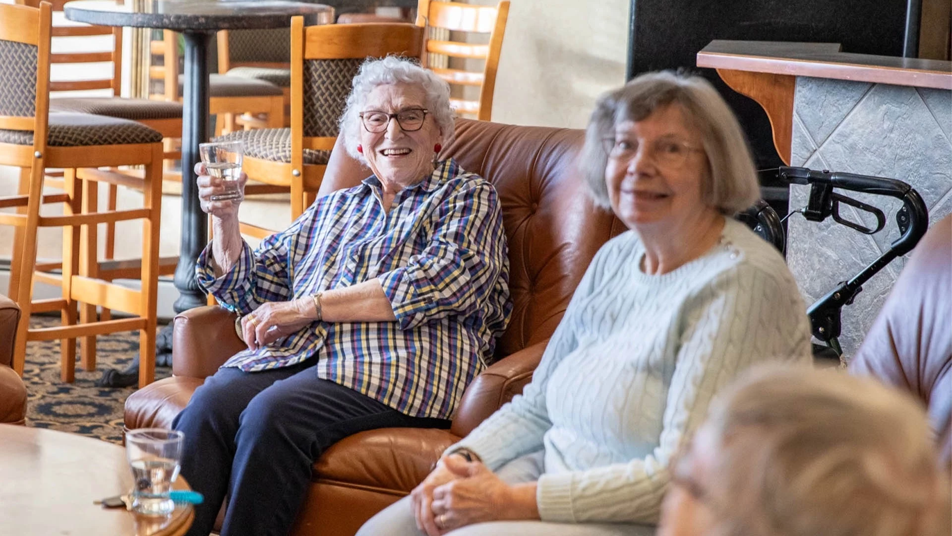
[[172,374],[207,378],[228,358],[248,348],[235,333],[235,314],[217,305],[195,307],[175,317]]

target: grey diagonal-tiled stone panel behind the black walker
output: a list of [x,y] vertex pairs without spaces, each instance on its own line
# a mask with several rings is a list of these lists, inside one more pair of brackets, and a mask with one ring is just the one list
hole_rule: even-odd
[[[791,165],[908,182],[925,201],[930,224],[952,212],[952,92],[800,77],[793,109]],[[791,210],[806,205],[808,191],[790,187]],[[858,274],[899,237],[898,199],[843,193],[880,207],[886,227],[870,237],[832,218],[815,223],[790,216],[787,263],[807,305]],[[843,208],[843,216],[874,224],[872,217]],[[840,343],[847,359],[859,349],[905,260],[886,266],[843,307]]]

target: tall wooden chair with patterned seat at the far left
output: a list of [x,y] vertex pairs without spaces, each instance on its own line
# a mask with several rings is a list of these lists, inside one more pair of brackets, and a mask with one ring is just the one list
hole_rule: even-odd
[[[13,369],[23,374],[28,340],[62,340],[62,378],[73,381],[75,339],[140,331],[140,386],[154,379],[158,289],[159,217],[162,199],[162,134],[128,119],[86,113],[50,113],[51,6],[0,4],[0,164],[29,170],[26,195],[0,198],[0,224],[23,229],[15,300],[23,310],[17,326]],[[82,168],[144,165],[144,208],[98,212],[89,202],[95,183]],[[62,168],[63,194],[43,195],[47,168]],[[84,196],[84,194],[86,194]],[[42,204],[60,203],[64,216],[41,216]],[[142,287],[129,290],[94,278],[95,252],[80,247],[82,232],[99,223],[143,219]],[[40,227],[63,229],[62,298],[32,300],[36,239]],[[88,245],[89,242],[86,242]],[[134,315],[76,324],[76,304],[102,305]],[[63,325],[30,329],[30,313],[59,310]],[[94,362],[84,361],[87,369]]]

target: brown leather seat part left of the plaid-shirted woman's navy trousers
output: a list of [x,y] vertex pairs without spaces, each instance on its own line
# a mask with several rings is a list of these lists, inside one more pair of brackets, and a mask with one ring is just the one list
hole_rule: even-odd
[[185,409],[191,395],[205,380],[172,376],[153,381],[126,399],[126,428],[171,428],[172,420]]

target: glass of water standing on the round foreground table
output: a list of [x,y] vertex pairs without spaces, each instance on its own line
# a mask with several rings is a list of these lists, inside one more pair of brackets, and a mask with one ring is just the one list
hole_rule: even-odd
[[175,509],[169,492],[178,477],[184,439],[182,432],[163,428],[139,428],[126,434],[133,511],[163,516]]

